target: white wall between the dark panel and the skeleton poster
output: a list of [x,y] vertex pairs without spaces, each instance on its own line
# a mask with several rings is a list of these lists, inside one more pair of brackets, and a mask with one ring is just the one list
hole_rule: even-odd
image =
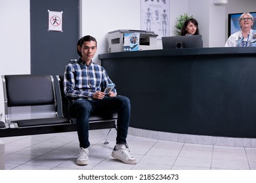
[[138,0],[80,0],[81,36],[96,38],[98,54],[107,52],[107,33],[117,29],[140,29],[140,1]]

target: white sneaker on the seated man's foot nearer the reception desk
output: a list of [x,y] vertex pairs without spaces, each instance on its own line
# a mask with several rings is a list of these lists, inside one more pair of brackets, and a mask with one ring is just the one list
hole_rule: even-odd
[[113,150],[112,152],[112,157],[119,159],[120,161],[123,161],[123,163],[127,163],[127,164],[136,164],[137,160],[135,158],[133,158],[133,156],[131,155],[131,152],[129,151],[128,148],[121,148],[119,150]]

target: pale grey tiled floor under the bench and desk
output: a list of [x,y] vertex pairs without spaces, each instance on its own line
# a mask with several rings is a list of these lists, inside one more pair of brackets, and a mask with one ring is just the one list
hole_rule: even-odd
[[182,142],[158,141],[128,135],[131,153],[137,165],[127,165],[112,158],[116,131],[112,129],[103,144],[108,129],[91,130],[89,165],[79,166],[76,132],[0,138],[5,142],[5,169],[256,169],[256,148],[213,146]]

